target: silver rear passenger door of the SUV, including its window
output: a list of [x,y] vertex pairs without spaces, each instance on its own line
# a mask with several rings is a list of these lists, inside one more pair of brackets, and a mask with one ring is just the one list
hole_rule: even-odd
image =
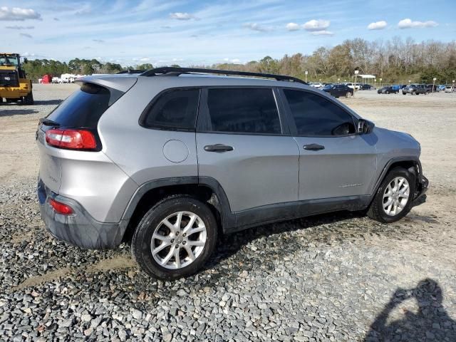
[[204,88],[197,156],[199,177],[219,182],[232,212],[298,199],[299,149],[272,88]]

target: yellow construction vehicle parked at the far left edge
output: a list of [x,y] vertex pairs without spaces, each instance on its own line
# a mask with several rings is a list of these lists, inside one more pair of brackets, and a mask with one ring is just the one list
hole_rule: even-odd
[[19,53],[0,52],[0,103],[33,105],[31,80],[26,78]]

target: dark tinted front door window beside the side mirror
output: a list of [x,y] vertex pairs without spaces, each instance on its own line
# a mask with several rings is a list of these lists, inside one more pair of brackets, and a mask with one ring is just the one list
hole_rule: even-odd
[[353,118],[330,100],[313,93],[284,90],[298,135],[346,135],[355,133]]

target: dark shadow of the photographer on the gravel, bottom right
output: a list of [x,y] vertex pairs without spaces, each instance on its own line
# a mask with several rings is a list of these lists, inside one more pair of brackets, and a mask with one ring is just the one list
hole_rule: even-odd
[[[418,312],[403,309],[402,319],[391,319],[393,310],[407,299],[417,301]],[[442,299],[442,289],[433,279],[420,281],[415,289],[397,289],[364,341],[456,341],[456,321],[448,316]]]

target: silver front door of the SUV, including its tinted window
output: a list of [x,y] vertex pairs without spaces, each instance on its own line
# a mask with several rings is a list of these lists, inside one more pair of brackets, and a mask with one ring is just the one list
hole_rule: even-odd
[[375,137],[356,134],[356,118],[316,92],[283,89],[300,149],[299,199],[369,195],[376,175]]

